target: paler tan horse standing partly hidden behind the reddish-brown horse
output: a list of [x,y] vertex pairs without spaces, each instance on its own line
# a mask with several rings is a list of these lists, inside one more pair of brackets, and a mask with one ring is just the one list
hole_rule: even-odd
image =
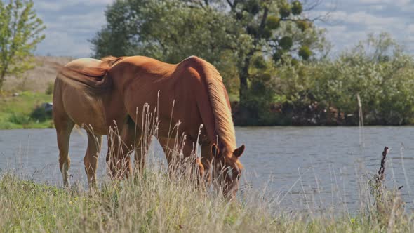
[[[95,69],[100,72],[95,76],[102,76],[109,69],[109,62],[102,62],[92,58],[81,58],[69,62],[62,69]],[[58,148],[59,148],[59,167],[63,176],[63,184],[69,185],[68,171],[70,166],[69,158],[69,137],[75,124],[88,128],[88,149],[84,158],[85,171],[88,175],[88,182],[95,184],[96,169],[98,168],[98,155],[102,145],[102,135],[107,135],[109,128],[104,112],[105,93],[102,95],[88,95],[86,90],[91,87],[83,84],[79,74],[76,74],[78,82],[68,79],[63,73],[59,72],[55,79],[53,91],[53,121],[56,128]],[[76,80],[76,79],[74,79]],[[69,82],[68,82],[69,81]]]

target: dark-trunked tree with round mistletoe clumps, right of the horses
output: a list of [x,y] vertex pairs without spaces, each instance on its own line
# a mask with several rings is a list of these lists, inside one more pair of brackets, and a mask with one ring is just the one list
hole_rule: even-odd
[[[318,4],[318,1],[314,2]],[[269,107],[278,98],[267,78],[274,76],[274,66],[309,60],[314,51],[326,49],[326,43],[323,31],[316,29],[313,20],[304,13],[316,4],[305,9],[300,1],[227,0],[226,3],[230,8],[228,15],[239,22],[238,26],[251,39],[251,45],[244,48],[243,56],[238,61],[239,99],[244,118],[239,123],[245,121],[251,124],[249,119],[268,115]],[[262,62],[267,60],[273,62]],[[255,90],[258,87],[262,91]],[[273,98],[269,91],[265,91],[266,88],[273,89]],[[268,97],[261,98],[262,93],[267,93]],[[260,120],[253,124],[267,122]]]

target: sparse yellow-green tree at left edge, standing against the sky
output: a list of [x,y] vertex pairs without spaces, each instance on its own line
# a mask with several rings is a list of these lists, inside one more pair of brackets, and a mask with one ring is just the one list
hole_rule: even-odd
[[8,74],[32,69],[32,52],[44,39],[46,27],[33,9],[33,1],[0,1],[0,89]]

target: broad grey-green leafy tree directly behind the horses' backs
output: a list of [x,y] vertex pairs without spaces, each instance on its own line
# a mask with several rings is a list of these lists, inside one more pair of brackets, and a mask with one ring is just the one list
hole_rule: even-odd
[[227,88],[236,86],[229,78],[237,75],[233,50],[251,42],[222,12],[178,0],[118,0],[105,16],[107,25],[91,39],[94,57],[147,55],[176,63],[197,55],[220,70]]

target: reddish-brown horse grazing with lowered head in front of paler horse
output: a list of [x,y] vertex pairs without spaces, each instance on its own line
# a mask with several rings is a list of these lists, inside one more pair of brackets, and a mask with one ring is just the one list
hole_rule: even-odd
[[[136,145],[136,138],[141,138],[143,135],[140,133],[146,131],[145,124],[142,124],[145,116],[137,114],[137,109],[149,106],[147,112],[154,112],[159,121],[158,138],[166,152],[168,164],[175,159],[171,150],[174,149],[176,137],[185,135],[181,138],[184,142],[184,157],[188,157],[196,142],[199,142],[200,167],[206,170],[206,179],[210,180],[209,171],[212,171],[225,194],[235,194],[243,168],[239,157],[244,146],[236,148],[229,98],[222,77],[213,65],[196,57],[171,65],[142,56],[110,58],[96,65],[81,68],[67,65],[60,74],[65,76],[62,79],[67,80],[67,84],[72,84],[70,86],[73,88],[84,89],[84,96],[91,100],[90,103],[96,103],[89,108],[102,110],[100,122],[105,132],[96,131],[97,133],[105,134],[114,126],[118,128],[121,136],[113,140],[120,140],[121,143],[108,142],[108,145]],[[66,104],[70,101],[68,99],[62,102]],[[74,105],[76,108],[78,104]],[[89,117],[84,113],[82,115]],[[93,124],[92,121],[93,118],[88,118],[75,122]],[[176,133],[172,135],[171,123],[174,126],[178,122],[180,124],[175,128]],[[201,124],[203,128],[199,137]],[[145,157],[140,152],[139,149],[135,150],[135,164],[142,166]],[[130,171],[128,158],[120,153],[112,163],[126,159],[127,170]],[[63,164],[61,167],[66,168]],[[62,174],[65,178],[65,169]]]

